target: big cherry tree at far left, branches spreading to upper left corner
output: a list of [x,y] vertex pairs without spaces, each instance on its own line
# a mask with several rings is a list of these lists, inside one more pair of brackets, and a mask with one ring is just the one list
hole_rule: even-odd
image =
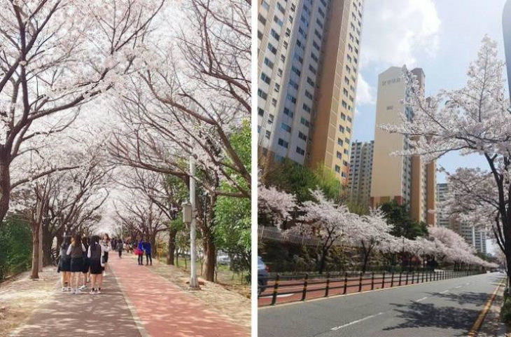
[[36,121],[78,114],[122,85],[141,65],[137,56],[163,1],[1,1],[0,220],[22,144],[55,131],[34,132]]

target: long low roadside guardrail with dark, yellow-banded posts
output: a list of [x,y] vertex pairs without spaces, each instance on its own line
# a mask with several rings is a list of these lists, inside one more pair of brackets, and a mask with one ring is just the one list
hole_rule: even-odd
[[448,280],[485,273],[481,270],[438,270],[400,273],[353,273],[344,275],[276,275],[260,277],[258,282],[259,305],[305,301],[311,298],[345,295],[375,289],[387,289],[408,284]]

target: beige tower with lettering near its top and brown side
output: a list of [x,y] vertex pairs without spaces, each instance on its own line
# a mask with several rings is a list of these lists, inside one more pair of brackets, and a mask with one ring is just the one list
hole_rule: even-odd
[[[423,86],[426,76],[420,68],[412,73]],[[402,117],[413,119],[414,112],[402,103],[407,95],[402,69],[391,67],[378,76],[376,128],[370,202],[372,206],[396,200],[408,204],[415,221],[435,226],[435,162],[423,163],[419,156],[392,156],[391,153],[410,149],[410,139],[404,135],[381,130],[379,125],[399,125]]]

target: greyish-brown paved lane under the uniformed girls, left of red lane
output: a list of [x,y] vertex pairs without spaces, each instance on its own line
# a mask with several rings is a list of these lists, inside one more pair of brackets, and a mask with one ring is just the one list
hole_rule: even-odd
[[[107,270],[109,273],[109,270]],[[34,310],[12,337],[141,337],[119,284],[107,275],[98,295],[62,293]]]

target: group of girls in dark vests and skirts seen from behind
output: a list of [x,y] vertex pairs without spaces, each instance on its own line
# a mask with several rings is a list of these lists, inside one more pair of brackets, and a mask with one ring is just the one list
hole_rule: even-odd
[[[120,245],[122,254],[122,241],[116,244]],[[62,273],[62,291],[80,294],[87,289],[87,282],[90,281],[90,294],[101,294],[104,270],[111,250],[108,234],[104,234],[103,238],[98,235],[90,238],[81,238],[80,235],[66,236],[60,247],[57,269]]]

